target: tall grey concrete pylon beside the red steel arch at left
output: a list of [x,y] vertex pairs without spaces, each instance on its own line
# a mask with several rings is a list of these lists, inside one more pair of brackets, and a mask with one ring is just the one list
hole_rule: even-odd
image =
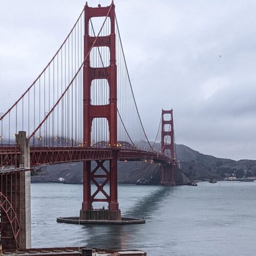
[[[30,146],[26,132],[16,134],[16,144],[22,153],[20,172],[20,249],[31,248],[31,190],[30,190]],[[19,166],[22,167],[22,166]]]

